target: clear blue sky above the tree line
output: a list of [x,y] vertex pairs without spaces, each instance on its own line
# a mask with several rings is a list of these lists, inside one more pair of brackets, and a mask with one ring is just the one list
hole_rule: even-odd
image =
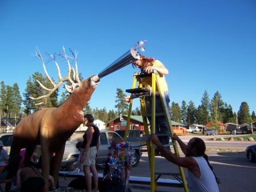
[[[216,91],[238,111],[243,101],[256,112],[256,2],[235,1],[0,1],[0,81],[17,82],[21,94],[35,71],[34,49],[79,51],[84,78],[97,74],[147,39],[145,55],[169,69],[171,102],[201,104]],[[46,56],[46,55],[45,55]],[[60,60],[62,75],[67,67]],[[53,63],[46,65],[57,79]],[[101,79],[90,106],[114,109],[117,87],[130,89],[131,65]],[[138,102],[135,101],[135,106]]]

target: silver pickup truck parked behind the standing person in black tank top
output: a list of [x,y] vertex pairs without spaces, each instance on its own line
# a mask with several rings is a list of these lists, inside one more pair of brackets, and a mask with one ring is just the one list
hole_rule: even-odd
[[[66,142],[65,145],[65,151],[63,154],[63,159],[61,162],[61,167],[65,169],[66,171],[69,171],[71,168],[71,165],[77,161],[78,155],[80,151],[75,147],[78,141],[83,140],[83,134],[85,131],[76,131],[74,132],[69,140]],[[111,141],[115,137],[122,138],[118,133],[115,131],[100,131],[99,133],[101,138],[101,145],[99,146],[99,152],[98,152],[98,158],[96,163],[97,164],[103,164],[106,161],[107,153],[108,153],[108,147],[110,146]],[[141,158],[141,146],[139,146],[137,143],[131,143],[132,149],[134,151],[134,156],[131,161],[131,165],[133,167],[137,166],[139,163],[139,159]],[[37,149],[34,151],[33,157],[39,158],[41,155],[41,147],[38,146]]]

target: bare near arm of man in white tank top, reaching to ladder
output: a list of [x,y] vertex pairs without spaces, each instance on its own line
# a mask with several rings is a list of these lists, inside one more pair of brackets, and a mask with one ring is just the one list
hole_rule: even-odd
[[191,157],[179,157],[171,151],[166,150],[163,147],[162,143],[158,140],[156,134],[150,134],[149,139],[158,147],[159,152],[165,157],[168,161],[182,167],[186,167],[187,169],[193,170],[195,167],[198,167],[197,162]]

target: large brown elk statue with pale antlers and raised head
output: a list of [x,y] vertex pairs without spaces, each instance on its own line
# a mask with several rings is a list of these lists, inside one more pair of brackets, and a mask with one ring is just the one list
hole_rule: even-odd
[[[90,100],[99,81],[94,82],[92,79],[94,77],[93,75],[81,82],[78,77],[77,54],[74,54],[71,51],[73,57],[69,57],[66,55],[65,48],[63,47],[63,51],[59,55],[65,59],[69,67],[66,77],[61,76],[61,71],[59,70],[55,56],[49,54],[58,70],[59,82],[54,83],[47,73],[43,57],[39,51],[36,51],[36,54],[41,60],[45,74],[53,85],[53,88],[49,89],[38,81],[39,85],[41,85],[43,89],[49,91],[49,93],[37,98],[31,97],[31,99],[46,99],[65,81],[71,83],[71,86],[65,85],[70,95],[62,105],[38,110],[26,118],[23,118],[21,122],[18,123],[13,133],[10,157],[19,154],[19,151],[22,148],[26,148],[25,161],[28,161],[33,154],[35,146],[41,145],[43,178],[47,184],[49,174],[51,174],[54,177],[56,186],[58,171],[65,149],[65,142],[83,122],[83,108]],[[70,58],[75,61],[75,70],[71,67],[69,61]],[[71,77],[71,71],[73,71],[73,77]],[[52,153],[55,153],[55,158],[53,159],[53,170],[50,173],[50,155]]]

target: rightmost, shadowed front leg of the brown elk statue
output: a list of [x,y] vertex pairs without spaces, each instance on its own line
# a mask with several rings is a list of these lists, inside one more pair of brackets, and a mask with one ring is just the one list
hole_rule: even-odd
[[52,164],[51,164],[51,176],[53,176],[54,178],[54,185],[55,187],[57,187],[57,182],[58,182],[58,175],[59,175],[59,167],[61,167],[61,161],[63,158],[63,153],[65,150],[65,143],[64,145],[61,147],[60,150],[55,152],[55,157],[52,159]]

